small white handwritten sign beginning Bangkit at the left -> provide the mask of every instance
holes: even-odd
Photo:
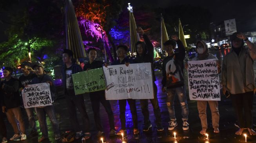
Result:
[[[22,90],[25,108],[52,105],[49,83],[31,84]]]

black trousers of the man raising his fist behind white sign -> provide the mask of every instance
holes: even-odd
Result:
[[[154,99],[150,99],[150,102],[154,108],[154,115],[156,117],[156,125],[161,125],[161,112],[158,105],[158,99],[157,99],[157,86],[154,83]],[[144,116],[144,124],[151,123],[149,120],[149,102],[148,99],[141,99],[140,105],[142,108],[142,114]]]

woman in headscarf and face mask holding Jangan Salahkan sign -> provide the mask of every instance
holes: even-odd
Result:
[[[198,41],[196,44],[196,52],[197,56],[192,58],[191,61],[200,61],[200,60],[207,60],[207,59],[214,59],[216,60],[216,64],[218,67],[218,73],[221,72],[220,63],[218,62],[218,58],[209,53],[207,45],[204,41]],[[188,64],[185,64],[185,68],[187,69]],[[200,134],[205,134],[207,130],[207,115],[206,115],[206,108],[207,102],[211,109],[212,113],[212,127],[214,133],[219,133],[219,121],[220,121],[220,114],[218,109],[218,101],[205,101],[205,100],[198,100],[197,101],[197,109],[199,113],[199,118],[201,120],[202,130]]]

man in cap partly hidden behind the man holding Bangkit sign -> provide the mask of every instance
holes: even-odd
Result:
[[[27,84],[32,81],[34,77],[36,77],[36,74],[31,68],[30,63],[27,61],[20,64],[20,69],[23,72],[23,75],[19,77],[20,90],[22,90],[25,86],[27,86]],[[27,135],[27,137],[31,138],[33,136],[37,136],[38,133],[36,130],[36,120],[34,119],[34,108],[25,108],[25,111],[29,120],[29,126],[31,127],[31,132],[29,135]]]

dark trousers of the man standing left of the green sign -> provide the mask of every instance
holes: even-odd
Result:
[[[69,120],[75,132],[81,131],[80,125],[76,116],[76,108],[82,116],[84,132],[90,132],[89,117],[86,113],[83,95],[67,95],[66,96],[67,107],[69,112]]]

